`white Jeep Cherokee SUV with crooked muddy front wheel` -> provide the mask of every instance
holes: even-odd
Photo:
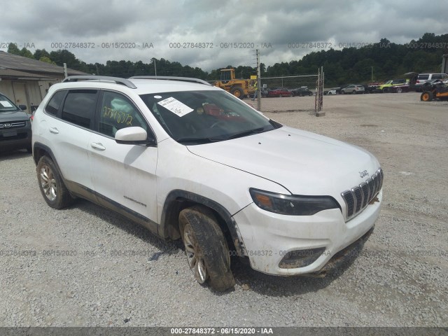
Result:
[[[73,76],[34,114],[38,186],[183,240],[200,283],[235,285],[230,255],[267,274],[325,274],[362,246],[383,172],[367,151],[286,127],[194,78]]]

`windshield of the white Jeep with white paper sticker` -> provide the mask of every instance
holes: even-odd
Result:
[[[281,127],[227,92],[162,92],[140,97],[165,131],[181,144],[225,141]]]

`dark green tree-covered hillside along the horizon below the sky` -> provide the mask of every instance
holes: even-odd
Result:
[[[151,63],[141,61],[107,61],[106,64],[87,64],[68,50],[47,52],[36,50],[34,54],[22,48],[19,50],[10,43],[8,52],[39,59],[62,66],[64,63],[71,69],[95,73],[103,76],[127,78],[139,75],[186,76],[205,80],[219,79],[220,69],[211,72],[198,67],[170,62],[167,59],[151,59]],[[382,38],[378,43],[365,45],[362,48],[343,48],[342,50],[321,50],[310,52],[302,59],[281,62],[274,65],[261,64],[263,77],[293,76],[316,73],[320,66],[325,71],[325,86],[335,86],[343,83],[368,83],[370,81],[388,80],[402,77],[407,72],[440,72],[442,55],[448,54],[448,34],[424,34],[417,41],[405,44],[391,43]],[[155,63],[155,66],[154,66]],[[226,68],[231,65],[223,66]],[[249,78],[256,74],[252,66],[235,66],[238,78]],[[373,78],[372,78],[373,75]]]

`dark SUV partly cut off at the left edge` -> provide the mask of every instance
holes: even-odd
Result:
[[[23,110],[0,93],[0,151],[25,148],[31,153],[31,122]]]

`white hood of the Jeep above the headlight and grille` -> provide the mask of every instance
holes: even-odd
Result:
[[[188,150],[279,183],[295,195],[339,197],[379,168],[377,159],[362,148],[286,126],[249,137],[188,146]]]

